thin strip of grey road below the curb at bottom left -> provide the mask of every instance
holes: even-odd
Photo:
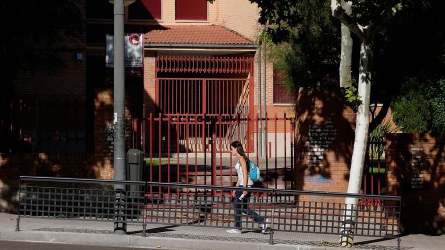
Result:
[[[108,247],[95,245],[76,245],[63,243],[43,243],[43,242],[22,242],[22,241],[3,241],[0,240],[1,250],[141,250],[141,249],[164,249],[167,248],[142,248],[142,247]],[[168,249],[167,249],[168,250]]]

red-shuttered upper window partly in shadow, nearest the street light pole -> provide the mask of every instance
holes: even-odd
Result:
[[[136,0],[128,6],[128,18],[140,20],[162,19],[161,0]]]

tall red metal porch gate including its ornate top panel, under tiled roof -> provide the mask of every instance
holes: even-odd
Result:
[[[253,120],[252,72],[251,57],[157,57],[156,105],[160,114],[169,117],[159,126],[173,132],[173,137],[162,137],[168,143],[162,143],[160,152],[210,152],[205,145],[215,136],[224,138],[218,147],[228,152],[236,131],[237,139],[253,152],[253,124],[224,124],[217,129],[215,118],[221,115]],[[205,77],[190,77],[197,75]],[[203,116],[214,119],[203,124],[183,122]],[[172,119],[180,122],[171,125]]]

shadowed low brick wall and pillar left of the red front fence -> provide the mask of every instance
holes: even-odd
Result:
[[[132,145],[131,118],[142,115],[142,84],[125,95],[126,148]],[[0,154],[0,212],[15,211],[20,175],[113,178],[113,91],[95,89],[94,154]]]

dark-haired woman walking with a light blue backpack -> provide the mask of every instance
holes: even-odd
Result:
[[[239,141],[234,141],[230,144],[230,151],[233,156],[236,156],[238,159],[237,164],[235,165],[235,169],[238,174],[238,180],[236,183],[236,187],[251,187],[253,185],[253,181],[249,176],[249,158],[247,158],[244,153],[243,145]],[[265,232],[266,224],[268,220],[264,220],[264,217],[259,216],[253,210],[250,210],[248,207],[249,197],[247,191],[232,191],[232,197],[234,197],[234,210],[235,210],[235,228],[227,230],[228,233],[241,233],[241,211],[252,218],[255,222],[262,222],[261,228],[262,232]]]

